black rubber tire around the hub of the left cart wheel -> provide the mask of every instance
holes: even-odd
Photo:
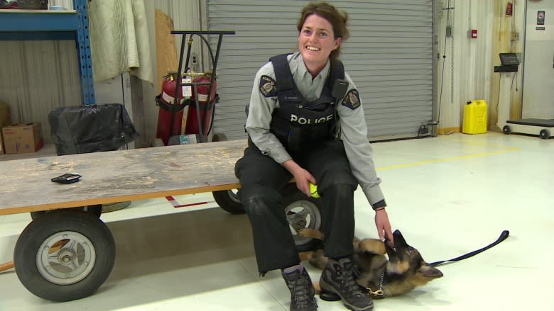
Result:
[[[77,283],[59,285],[46,280],[38,271],[41,244],[53,234],[75,232],[92,242],[96,254],[94,267]],[[13,261],[19,281],[31,293],[56,302],[77,300],[92,295],[112,272],[115,243],[112,233],[98,217],[80,210],[55,210],[33,220],[19,236]]]

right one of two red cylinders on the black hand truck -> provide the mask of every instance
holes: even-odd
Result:
[[[187,125],[185,126],[185,134],[200,134],[198,126],[198,115],[200,114],[200,122],[202,123],[202,135],[206,137],[210,132],[212,127],[212,119],[214,116],[214,105],[217,102],[217,95],[215,94],[215,89],[217,88],[217,83],[214,79],[213,83],[210,74],[196,77],[192,80],[192,84],[196,87],[192,88],[191,103],[188,108],[187,114]],[[211,86],[211,93],[210,93]],[[196,89],[196,91],[195,91]],[[196,94],[198,93],[198,100]],[[212,94],[212,96],[210,96]],[[208,101],[208,96],[210,96],[210,101]],[[196,106],[198,103],[198,110]],[[198,112],[198,113],[197,113]]]

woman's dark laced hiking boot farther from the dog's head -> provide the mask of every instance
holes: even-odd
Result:
[[[298,266],[291,272],[281,271],[288,290],[290,290],[290,311],[315,311],[315,289],[308,271]]]

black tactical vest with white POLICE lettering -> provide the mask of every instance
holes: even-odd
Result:
[[[330,73],[320,98],[306,101],[294,83],[287,55],[277,55],[270,60],[275,72],[280,105],[271,115],[270,131],[273,135],[291,152],[332,140],[337,125],[336,98],[332,96],[332,87],[335,79],[344,80],[342,62],[331,62]]]

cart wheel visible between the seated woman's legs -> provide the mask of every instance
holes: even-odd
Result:
[[[298,251],[313,249],[315,241],[309,237],[300,237],[298,231],[304,228],[313,230],[321,229],[322,217],[320,213],[321,200],[311,198],[296,188],[295,183],[290,183],[283,190],[283,205],[288,220],[290,232],[293,233],[294,242]]]

